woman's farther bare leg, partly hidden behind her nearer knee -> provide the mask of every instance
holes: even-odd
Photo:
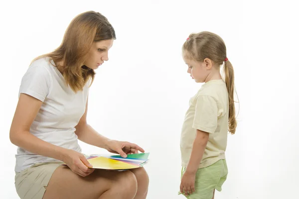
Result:
[[[137,179],[137,193],[134,199],[146,199],[149,189],[149,176],[145,168],[131,169]]]

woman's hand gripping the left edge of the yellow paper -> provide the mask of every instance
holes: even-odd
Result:
[[[90,169],[92,165],[87,161],[85,156],[77,151],[67,149],[63,157],[63,162],[76,174],[85,177],[94,172]],[[88,168],[89,167],[89,168]]]

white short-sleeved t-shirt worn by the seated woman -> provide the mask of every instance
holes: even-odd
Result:
[[[75,126],[85,112],[89,83],[83,91],[73,92],[66,86],[62,74],[49,58],[34,61],[21,80],[19,95],[30,95],[43,101],[30,133],[34,136],[67,149],[81,153]],[[53,65],[52,65],[53,64]],[[20,172],[35,163],[57,161],[56,159],[33,154],[20,147],[15,155],[15,171]]]

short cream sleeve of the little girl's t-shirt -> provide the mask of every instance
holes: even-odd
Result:
[[[214,133],[217,128],[218,107],[211,96],[199,95],[195,104],[195,116],[192,128]]]

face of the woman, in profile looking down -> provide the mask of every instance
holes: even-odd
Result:
[[[108,61],[108,50],[113,45],[113,39],[94,42],[84,62],[90,69],[97,69],[104,61]]]

